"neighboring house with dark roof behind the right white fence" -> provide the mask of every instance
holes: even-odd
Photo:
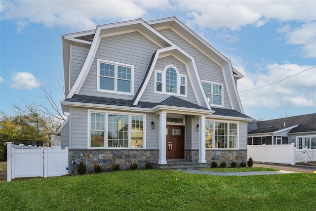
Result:
[[[292,143],[316,149],[316,113],[248,122],[248,145]]]

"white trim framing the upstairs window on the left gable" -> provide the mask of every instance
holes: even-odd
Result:
[[[114,76],[114,89],[115,90],[114,91],[100,88],[100,77],[101,77],[100,76],[100,63],[107,63],[107,64],[115,65],[115,76]],[[130,92],[117,91],[117,89],[118,89],[118,65],[131,68]],[[134,95],[134,65],[113,62],[113,61],[108,61],[108,60],[103,60],[103,59],[97,59],[97,91],[114,93],[114,94]]]

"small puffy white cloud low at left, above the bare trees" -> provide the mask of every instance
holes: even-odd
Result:
[[[14,89],[32,90],[39,88],[40,83],[32,73],[28,72],[14,72],[11,77],[12,83],[10,86]]]

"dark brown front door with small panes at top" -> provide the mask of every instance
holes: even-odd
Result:
[[[167,126],[166,159],[184,159],[184,126]]]

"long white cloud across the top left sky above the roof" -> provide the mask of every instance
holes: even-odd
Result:
[[[144,13],[145,10],[129,0],[1,1],[1,19],[17,20],[18,32],[28,23],[89,30],[96,27],[95,21],[135,19]]]

